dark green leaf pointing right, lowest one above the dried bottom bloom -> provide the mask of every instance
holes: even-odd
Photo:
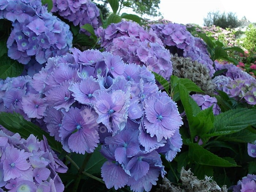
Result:
[[[217,167],[235,167],[237,166],[231,158],[221,158],[204,149],[197,143],[189,144],[188,157],[199,165],[217,166]]]

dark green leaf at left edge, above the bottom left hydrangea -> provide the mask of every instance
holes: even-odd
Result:
[[[5,127],[11,132],[19,133],[22,138],[27,139],[30,134],[37,136],[38,139],[43,140],[43,135],[46,137],[49,146],[59,153],[61,153],[62,146],[57,142],[54,137],[50,136],[47,132],[43,131],[37,125],[27,121],[22,115],[18,113],[0,113],[0,125]]]

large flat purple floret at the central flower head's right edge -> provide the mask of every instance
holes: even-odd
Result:
[[[150,97],[144,103],[144,128],[151,137],[155,135],[158,142],[173,136],[176,129],[183,124],[176,103],[169,97]]]

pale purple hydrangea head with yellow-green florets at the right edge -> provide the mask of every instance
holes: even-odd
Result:
[[[250,105],[256,104],[256,79],[242,71],[234,64],[219,64],[215,61],[218,70],[227,69],[221,76],[216,76],[213,82],[217,89],[224,91],[229,97]]]

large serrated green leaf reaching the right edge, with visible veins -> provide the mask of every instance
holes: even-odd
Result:
[[[227,135],[256,124],[256,109],[230,109],[214,118],[214,128],[204,136]]]

